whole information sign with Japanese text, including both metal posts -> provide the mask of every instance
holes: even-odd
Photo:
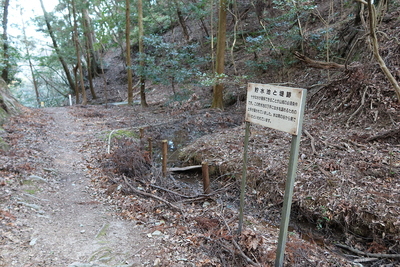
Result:
[[[243,207],[247,172],[247,148],[250,123],[256,123],[292,134],[289,168],[286,180],[278,249],[275,260],[276,267],[283,265],[290,220],[290,209],[293,197],[293,187],[296,178],[301,128],[306,104],[306,94],[307,91],[304,89],[268,84],[249,83],[247,87],[246,134],[243,152],[243,175],[240,194],[239,234],[241,233],[243,226]]]

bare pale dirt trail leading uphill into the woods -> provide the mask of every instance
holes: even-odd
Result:
[[[40,146],[53,161],[52,168],[45,168],[52,178],[32,173],[24,181],[14,198],[20,207],[16,222],[20,236],[9,234],[0,266],[153,265],[152,251],[158,250],[159,240],[149,238],[144,226],[113,216],[113,208],[88,190],[90,176],[84,162],[90,155],[80,147],[101,123],[75,118],[70,110],[44,110],[50,120]]]

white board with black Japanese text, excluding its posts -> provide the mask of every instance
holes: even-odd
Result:
[[[246,121],[298,134],[304,89],[249,83]]]

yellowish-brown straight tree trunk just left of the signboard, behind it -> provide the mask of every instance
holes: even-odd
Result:
[[[217,58],[216,58],[216,72],[217,75],[224,73],[225,67],[225,41],[226,41],[226,13],[227,13],[228,0],[219,1],[219,14],[218,14],[218,35],[217,35]],[[217,83],[214,86],[212,108],[224,108],[223,102],[224,85]]]

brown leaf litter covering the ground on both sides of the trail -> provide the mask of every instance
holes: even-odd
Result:
[[[93,199],[77,203],[85,207],[90,205],[81,203],[109,205],[114,216],[142,227],[146,238],[159,238],[159,253],[150,256],[136,252],[150,257],[143,261],[147,265],[272,266],[290,136],[252,126],[245,225],[241,236],[237,236],[243,106],[233,107],[239,112],[201,110],[196,106],[166,109],[154,104],[147,110],[62,108],[86,127],[82,131],[91,131],[90,137],[78,142],[78,150],[85,157],[76,164],[85,169],[86,178],[91,181],[87,190]],[[13,199],[21,193],[21,184],[32,186],[32,193],[41,190],[24,184],[24,177],[34,173],[49,181],[54,179],[54,172],[46,171],[54,169],[54,162],[43,153],[45,148],[32,145],[52,142],[43,134],[46,125],[54,124],[47,116],[41,110],[29,110],[5,127],[5,139],[13,148],[1,156],[2,244],[20,242],[22,246],[19,233],[26,229],[18,225],[18,217],[32,212],[27,206],[16,206]],[[142,127],[145,137],[151,137],[155,144],[184,129],[186,143],[175,152],[179,161],[171,164],[192,165],[207,160],[212,193],[202,193],[198,173],[169,173],[162,177],[158,145],[149,157],[146,138],[112,138],[111,153],[107,153],[106,137],[111,130],[138,132]],[[366,141],[365,135],[374,136],[381,130],[344,129],[312,114],[306,115],[304,128],[313,139],[302,136],[286,265],[352,266],[358,258],[340,250],[335,242],[360,251],[398,254],[398,145],[385,139]]]

